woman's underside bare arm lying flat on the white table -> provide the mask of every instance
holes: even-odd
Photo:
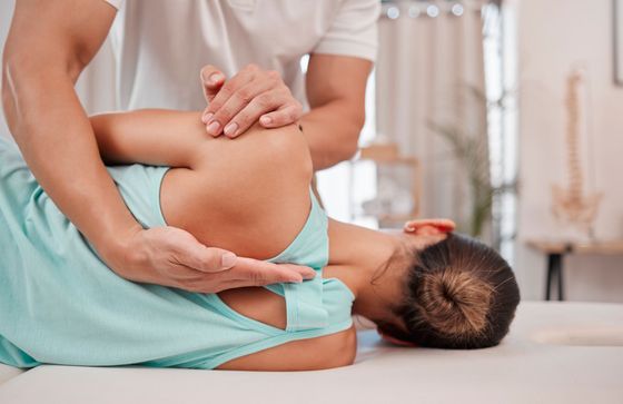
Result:
[[[317,338],[294,341],[220,365],[227,371],[320,371],[352,365],[357,353],[355,326]]]

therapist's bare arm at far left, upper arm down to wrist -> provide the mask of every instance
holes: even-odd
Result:
[[[38,181],[119,268],[123,257],[115,254],[117,245],[140,227],[99,158],[73,89],[115,13],[97,0],[16,2],[2,61],[2,104],[11,134]]]

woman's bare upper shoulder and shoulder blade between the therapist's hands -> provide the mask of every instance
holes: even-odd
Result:
[[[303,135],[294,126],[254,127],[198,149],[192,170],[172,170],[162,183],[167,223],[240,256],[279,254],[309,214],[312,160]]]

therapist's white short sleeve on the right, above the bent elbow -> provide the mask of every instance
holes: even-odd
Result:
[[[312,53],[353,56],[375,61],[379,0],[344,0],[332,27]]]

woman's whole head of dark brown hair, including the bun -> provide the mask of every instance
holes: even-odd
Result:
[[[494,249],[457,234],[414,252],[404,302],[396,308],[418,346],[476,349],[508,333],[520,303],[513,270]]]

